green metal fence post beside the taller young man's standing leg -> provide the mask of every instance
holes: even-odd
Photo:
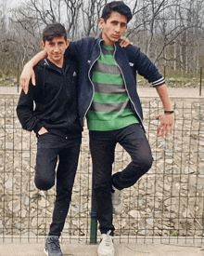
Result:
[[[97,243],[96,197],[92,178],[92,207],[91,207],[90,244]]]

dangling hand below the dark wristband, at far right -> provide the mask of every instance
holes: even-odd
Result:
[[[158,127],[158,135],[162,137],[168,137],[172,133],[172,128],[174,124],[174,115],[173,114],[161,114],[156,115],[156,118],[160,120]]]

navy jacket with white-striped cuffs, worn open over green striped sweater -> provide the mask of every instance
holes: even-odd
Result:
[[[76,58],[79,62],[79,115],[82,125],[94,97],[95,88],[91,78],[93,66],[101,54],[102,42],[100,37],[86,37],[70,42],[65,53],[65,56]],[[154,87],[164,84],[164,79],[155,64],[138,47],[120,47],[119,42],[115,43],[114,47],[114,58],[121,70],[132,110],[143,127],[142,106],[136,89],[136,72],[143,75]]]

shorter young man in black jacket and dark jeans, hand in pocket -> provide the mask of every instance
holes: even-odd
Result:
[[[45,243],[48,256],[62,255],[58,238],[70,207],[82,142],[83,128],[77,110],[78,66],[64,59],[69,43],[61,24],[45,28],[42,47],[47,58],[34,67],[36,86],[30,84],[28,94],[21,91],[17,106],[22,128],[33,130],[37,136],[34,182],[38,189],[53,187],[57,167],[56,202]]]

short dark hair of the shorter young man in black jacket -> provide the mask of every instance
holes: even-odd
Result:
[[[60,23],[48,24],[43,32],[43,41],[52,41],[55,36],[64,36],[67,40],[67,32],[65,27]]]

